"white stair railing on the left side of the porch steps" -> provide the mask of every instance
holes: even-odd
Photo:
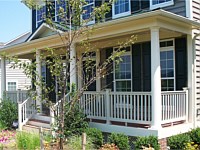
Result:
[[[23,102],[18,102],[18,128],[22,130],[28,120],[36,113],[36,101],[32,97]]]

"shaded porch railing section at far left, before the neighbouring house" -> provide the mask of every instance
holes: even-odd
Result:
[[[17,90],[17,91],[6,91],[6,98],[11,100],[12,102],[23,102],[28,98],[28,91],[27,90]]]

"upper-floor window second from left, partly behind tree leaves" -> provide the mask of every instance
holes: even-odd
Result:
[[[66,1],[56,0],[55,4],[55,21],[64,22],[66,16]]]

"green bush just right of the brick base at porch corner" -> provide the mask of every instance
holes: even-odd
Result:
[[[171,136],[167,139],[170,149],[184,149],[185,144],[189,143],[191,138],[188,133]]]

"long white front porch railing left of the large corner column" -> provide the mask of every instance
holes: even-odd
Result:
[[[150,124],[150,92],[84,92],[81,106],[89,119]]]

